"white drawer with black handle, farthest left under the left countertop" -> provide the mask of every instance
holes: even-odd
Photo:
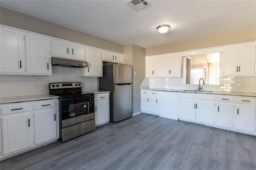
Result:
[[[31,111],[30,103],[16,103],[1,105],[1,115]]]

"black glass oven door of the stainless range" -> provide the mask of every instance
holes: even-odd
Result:
[[[60,107],[62,121],[94,113],[94,96],[62,99]]]

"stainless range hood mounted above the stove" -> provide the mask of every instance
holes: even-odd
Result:
[[[64,59],[59,57],[52,57],[52,66],[82,68],[82,67],[88,67],[88,63],[82,60],[72,60],[72,59]]]

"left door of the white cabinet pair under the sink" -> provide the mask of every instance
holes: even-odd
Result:
[[[190,99],[180,99],[180,118],[196,120],[196,102]]]

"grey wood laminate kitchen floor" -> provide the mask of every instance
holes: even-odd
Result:
[[[256,170],[256,136],[149,114],[2,160],[1,170]]]

